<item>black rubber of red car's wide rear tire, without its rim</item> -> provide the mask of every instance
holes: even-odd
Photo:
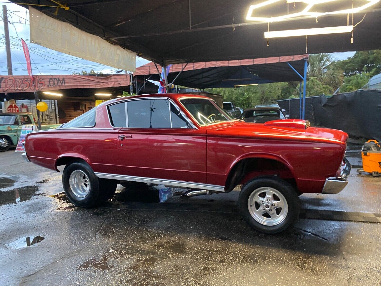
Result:
[[[80,172],[82,171],[82,172]],[[79,197],[70,187],[70,175],[75,172],[77,174],[85,174],[88,181],[88,192]],[[78,207],[94,207],[111,198],[117,188],[117,182],[108,179],[98,179],[93,169],[83,161],[72,162],[67,164],[62,174],[62,185],[70,202]]]

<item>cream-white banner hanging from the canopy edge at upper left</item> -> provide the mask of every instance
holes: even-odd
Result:
[[[31,43],[117,69],[135,71],[136,53],[46,16],[30,6],[29,15]]]

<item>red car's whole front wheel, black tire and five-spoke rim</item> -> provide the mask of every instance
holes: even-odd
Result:
[[[239,195],[239,210],[246,222],[263,233],[279,233],[299,217],[295,189],[277,177],[260,177],[246,183]]]

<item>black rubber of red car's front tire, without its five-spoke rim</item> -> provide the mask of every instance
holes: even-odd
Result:
[[[255,215],[250,214],[248,206],[249,197],[254,191],[258,193],[258,190],[261,187],[268,187],[279,191],[287,202],[287,215],[285,215],[285,218],[276,225],[264,225],[254,218]],[[256,206],[258,206],[258,203]],[[256,208],[256,206],[254,207]],[[239,194],[238,207],[243,219],[245,219],[245,221],[253,229],[263,233],[275,234],[285,231],[293,225],[296,219],[298,219],[300,212],[300,201],[298,194],[290,183],[278,177],[258,177],[250,180],[243,186]],[[262,205],[260,205],[259,209],[260,208],[262,208]]]

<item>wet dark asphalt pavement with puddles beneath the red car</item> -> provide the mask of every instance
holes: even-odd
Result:
[[[62,195],[61,173],[13,151],[0,159],[1,286],[381,284],[381,223],[299,219],[264,235],[235,211],[237,191],[157,204],[143,202],[149,189],[120,186],[109,204],[80,209]],[[352,169],[349,179],[337,195],[303,194],[307,214],[381,213],[381,178]],[[122,203],[131,200],[141,202]]]

